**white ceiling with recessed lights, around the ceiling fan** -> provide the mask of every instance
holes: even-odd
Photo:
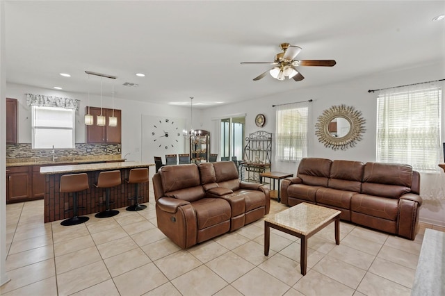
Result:
[[[99,93],[89,70],[118,77],[115,97],[207,108],[437,63],[444,13],[445,1],[6,1],[6,81]],[[337,65],[252,81],[271,66],[240,63],[273,61],[282,42]]]

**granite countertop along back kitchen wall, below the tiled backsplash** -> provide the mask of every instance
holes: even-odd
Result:
[[[83,157],[59,157],[56,161],[51,158],[13,158],[6,160],[7,167],[19,167],[22,165],[66,165],[70,163],[104,163],[106,161],[125,161],[120,155],[83,156]]]

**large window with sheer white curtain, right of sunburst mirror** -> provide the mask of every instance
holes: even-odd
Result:
[[[430,85],[379,94],[377,161],[407,163],[419,172],[440,162],[442,89]]]

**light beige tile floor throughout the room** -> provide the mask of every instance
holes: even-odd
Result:
[[[150,197],[154,194],[151,190]],[[264,222],[180,249],[147,209],[63,227],[43,223],[43,201],[8,204],[6,270],[1,295],[410,295],[425,228],[406,240],[341,222],[309,238],[308,272],[300,241]],[[271,202],[271,213],[286,206]]]

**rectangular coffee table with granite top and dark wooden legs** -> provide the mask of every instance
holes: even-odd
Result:
[[[301,274],[307,270],[307,239],[335,222],[335,243],[340,244],[341,211],[315,204],[302,202],[280,213],[264,218],[264,255],[268,256],[270,246],[270,227],[289,233],[301,239],[300,268]]]

